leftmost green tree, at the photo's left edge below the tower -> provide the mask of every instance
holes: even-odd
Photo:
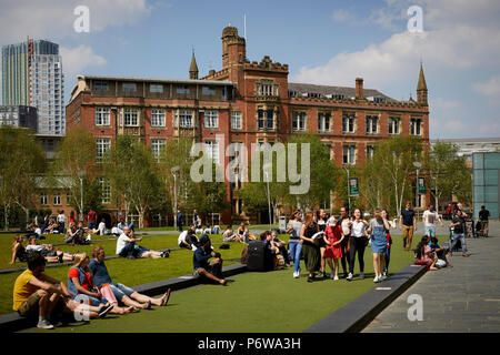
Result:
[[[24,211],[28,222],[29,209],[34,205],[39,175],[44,165],[46,154],[31,131],[0,128],[0,201],[6,231],[9,229],[9,212],[14,206]]]

